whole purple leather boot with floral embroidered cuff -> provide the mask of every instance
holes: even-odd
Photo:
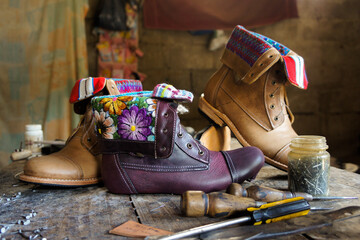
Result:
[[[183,129],[174,100],[191,101],[192,94],[161,84],[153,92],[93,98],[102,178],[111,192],[210,192],[256,177],[261,150],[208,150]]]

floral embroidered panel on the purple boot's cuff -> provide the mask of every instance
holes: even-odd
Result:
[[[95,97],[95,131],[105,139],[155,141],[157,100],[151,92]]]

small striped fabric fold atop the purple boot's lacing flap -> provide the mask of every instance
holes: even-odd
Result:
[[[156,85],[152,96],[186,102],[192,102],[194,98],[194,95],[191,92],[186,90],[178,90],[173,85],[166,83]]]

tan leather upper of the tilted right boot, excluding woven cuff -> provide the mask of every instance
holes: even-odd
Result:
[[[286,169],[288,144],[297,134],[291,127],[293,115],[287,106],[283,64],[279,58],[272,59],[278,60],[268,62],[260,77],[247,81],[244,76],[248,76],[249,67],[241,67],[243,60],[226,49],[221,59],[224,64],[208,82],[204,97],[228,118],[232,131],[236,129],[241,135],[241,144],[260,148],[269,162]],[[256,66],[253,71],[258,72]]]

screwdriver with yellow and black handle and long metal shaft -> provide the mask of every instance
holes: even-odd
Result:
[[[285,199],[277,202],[263,204],[260,207],[250,207],[242,212],[244,216],[229,219],[217,223],[211,223],[200,227],[191,228],[159,239],[174,240],[201,233],[209,232],[219,228],[231,226],[239,223],[254,225],[268,224],[285,219],[305,216],[310,211],[310,204],[302,197]]]

